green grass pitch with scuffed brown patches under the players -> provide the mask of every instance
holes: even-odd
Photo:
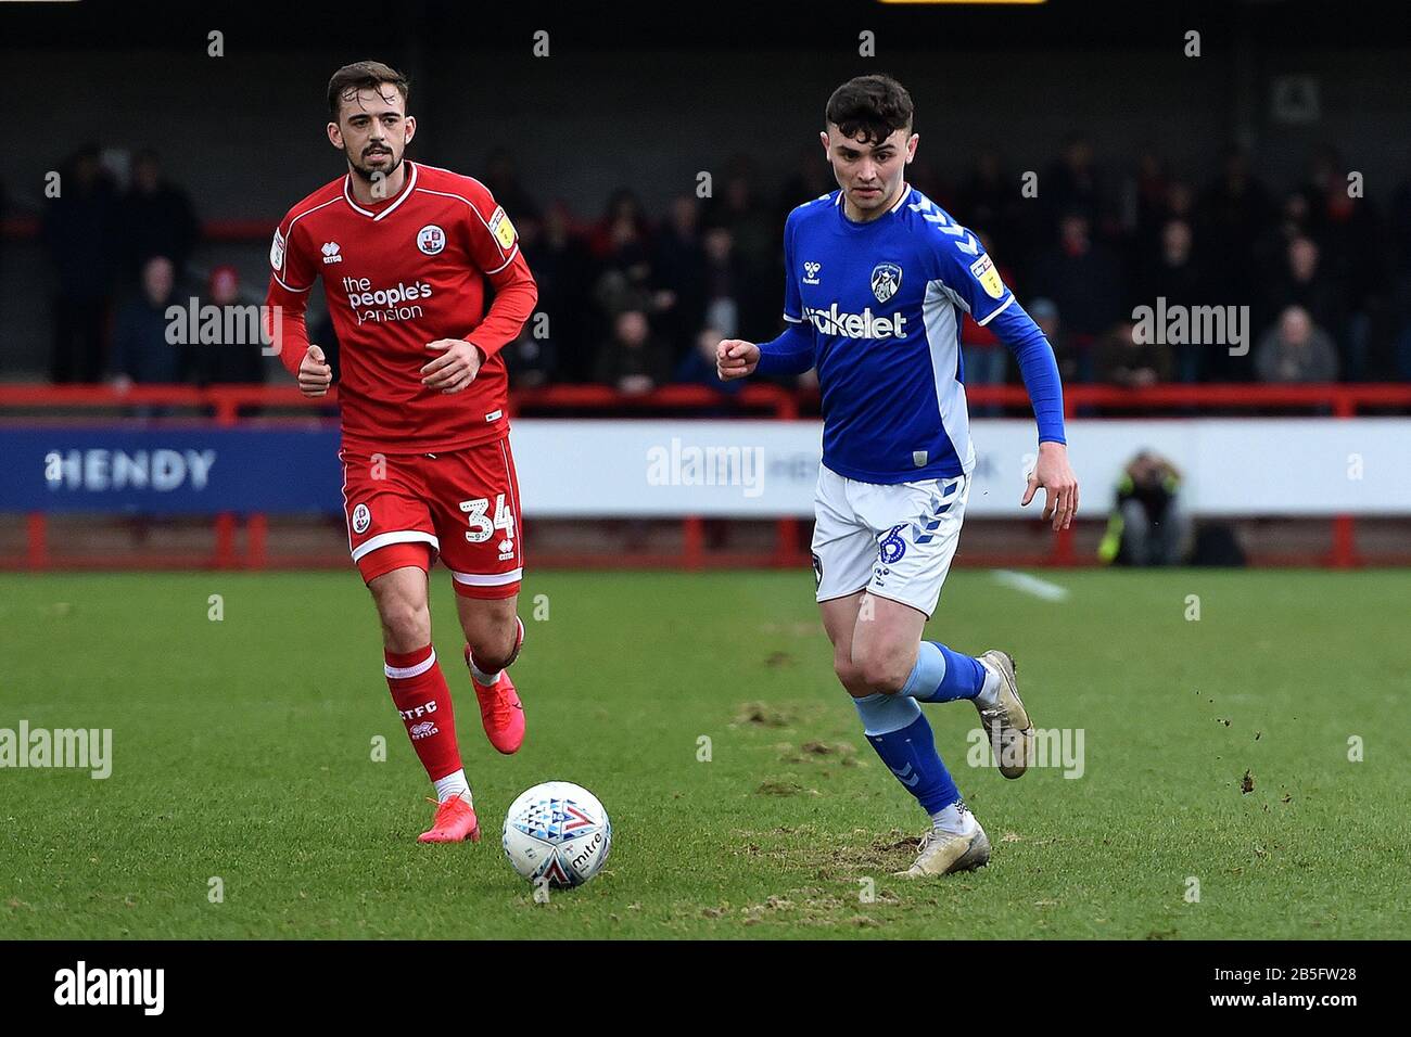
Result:
[[[892,872],[909,863],[926,820],[866,746],[832,677],[809,571],[532,571],[515,667],[529,736],[501,758],[480,731],[452,591],[436,570],[436,645],[459,691],[485,832],[459,847],[415,842],[429,786],[392,710],[354,573],[0,577],[0,728],[113,729],[106,780],[0,770],[0,931],[1411,930],[1411,576],[1044,576],[1067,601],[954,571],[928,635],[962,650],[1010,649],[1036,725],[1082,731],[1082,776],[1053,766],[1006,782],[969,766],[974,708],[928,705],[995,854],[976,873],[920,883]],[[535,618],[536,595],[547,618]],[[1188,595],[1199,598],[1198,621],[1187,618]],[[378,735],[385,762],[373,759]],[[1349,759],[1355,736],[1360,760]],[[591,883],[540,904],[505,861],[499,825],[514,796],[552,777],[602,799],[615,842]]]

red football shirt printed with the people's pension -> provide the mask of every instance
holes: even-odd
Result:
[[[350,175],[323,185],[281,220],[270,248],[268,305],[279,315],[279,360],[296,374],[309,336],[309,289],[323,293],[340,347],[343,443],[358,453],[459,450],[498,439],[505,361],[539,291],[505,210],[471,176],[406,162],[402,190],[364,206]],[[485,285],[494,302],[485,309]],[[464,339],[485,354],[476,380],[443,394],[420,368],[426,344]]]

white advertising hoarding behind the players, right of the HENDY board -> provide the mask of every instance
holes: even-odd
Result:
[[[1033,466],[1030,420],[976,419],[967,514],[1019,507]],[[1088,515],[1106,512],[1140,449],[1185,474],[1197,515],[1411,515],[1411,419],[1070,420]],[[519,419],[512,443],[525,511],[543,518],[811,516],[823,425],[758,419]]]

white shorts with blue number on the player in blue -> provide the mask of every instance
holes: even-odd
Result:
[[[961,539],[968,475],[880,485],[818,466],[813,574],[818,601],[866,590],[927,617]]]

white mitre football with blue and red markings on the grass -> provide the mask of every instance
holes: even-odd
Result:
[[[543,782],[519,794],[505,815],[505,856],[529,882],[581,886],[612,849],[612,823],[598,797],[573,782]]]

